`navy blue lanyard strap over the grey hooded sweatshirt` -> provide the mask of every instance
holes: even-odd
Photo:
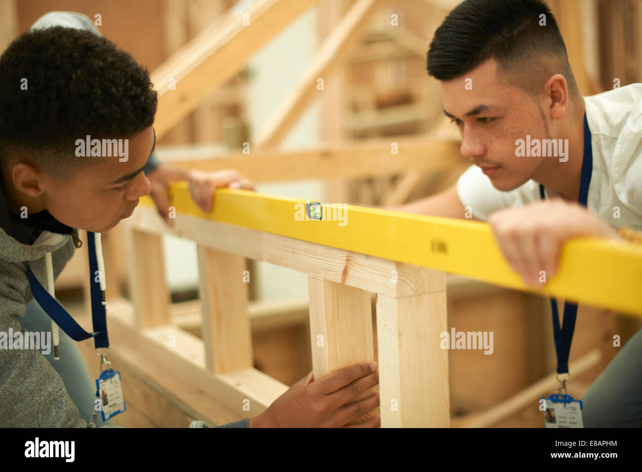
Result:
[[[92,250],[93,249],[93,250]],[[105,305],[102,303],[102,291],[100,290],[100,280],[96,281],[98,274],[98,259],[96,258],[96,240],[94,233],[87,231],[87,251],[89,252],[89,286],[91,292],[91,318],[93,333],[87,333],[80,324],[74,320],[67,310],[62,308],[60,303],[51,296],[49,292],[40,284],[31,267],[27,264],[29,275],[29,283],[31,285],[31,293],[36,299],[42,310],[49,315],[49,317],[56,322],[56,324],[69,335],[74,341],[82,341],[94,338],[94,345],[96,349],[99,347],[109,347],[109,339],[107,337],[107,312]],[[102,274],[104,276],[104,274]]]

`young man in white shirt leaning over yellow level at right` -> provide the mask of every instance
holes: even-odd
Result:
[[[582,96],[546,4],[464,1],[435,32],[428,73],[474,165],[452,188],[388,209],[488,221],[535,286],[542,270],[555,275],[565,241],[642,229],[642,84]],[[584,426],[642,426],[641,357],[642,330],[582,398]]]

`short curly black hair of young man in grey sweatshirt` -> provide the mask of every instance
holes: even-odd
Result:
[[[141,132],[157,102],[147,69],[105,37],[63,26],[28,31],[0,57],[0,162],[21,153],[67,180],[96,162],[76,157],[76,139]]]

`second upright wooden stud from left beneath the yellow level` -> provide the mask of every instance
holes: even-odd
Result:
[[[198,245],[207,369],[218,374],[254,365],[245,258]]]

